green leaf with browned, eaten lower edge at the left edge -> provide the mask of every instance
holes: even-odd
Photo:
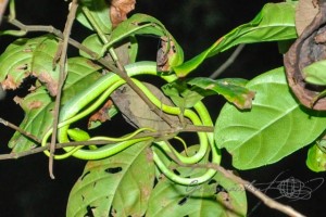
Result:
[[[0,81],[4,89],[18,88],[28,76],[38,78],[51,95],[57,95],[59,67],[53,68],[58,40],[46,35],[17,39],[0,55]]]

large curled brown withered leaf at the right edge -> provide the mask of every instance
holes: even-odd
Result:
[[[313,110],[326,111],[326,98],[318,99],[323,90],[308,85],[302,73],[312,63],[326,60],[326,44],[323,43],[326,35],[326,0],[319,0],[318,5],[319,12],[285,54],[284,64],[289,86],[300,103]]]

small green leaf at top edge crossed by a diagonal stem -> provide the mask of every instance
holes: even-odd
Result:
[[[105,0],[96,0],[96,1],[82,0],[82,3],[89,9],[92,17],[100,26],[102,33],[110,34],[112,28],[112,23],[110,20],[110,7],[108,5],[106,1]],[[93,30],[91,24],[83,13],[82,8],[78,8],[76,18],[82,25]]]

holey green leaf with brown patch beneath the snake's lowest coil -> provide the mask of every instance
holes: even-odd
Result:
[[[192,145],[188,153],[195,154],[199,145]],[[164,162],[168,162],[160,154]],[[208,159],[204,157],[200,163]],[[175,167],[172,164],[171,167]],[[178,167],[180,176],[199,177],[204,174],[204,168]],[[226,179],[217,173],[206,183],[187,187],[172,182],[167,178],[161,178],[155,186],[146,216],[246,216],[247,199],[243,187]]]

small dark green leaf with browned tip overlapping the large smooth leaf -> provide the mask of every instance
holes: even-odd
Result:
[[[227,101],[234,103],[239,108],[250,108],[254,92],[244,87],[247,80],[241,78],[225,78],[213,80],[205,77],[192,78],[189,85],[202,88],[208,93],[222,94]]]

